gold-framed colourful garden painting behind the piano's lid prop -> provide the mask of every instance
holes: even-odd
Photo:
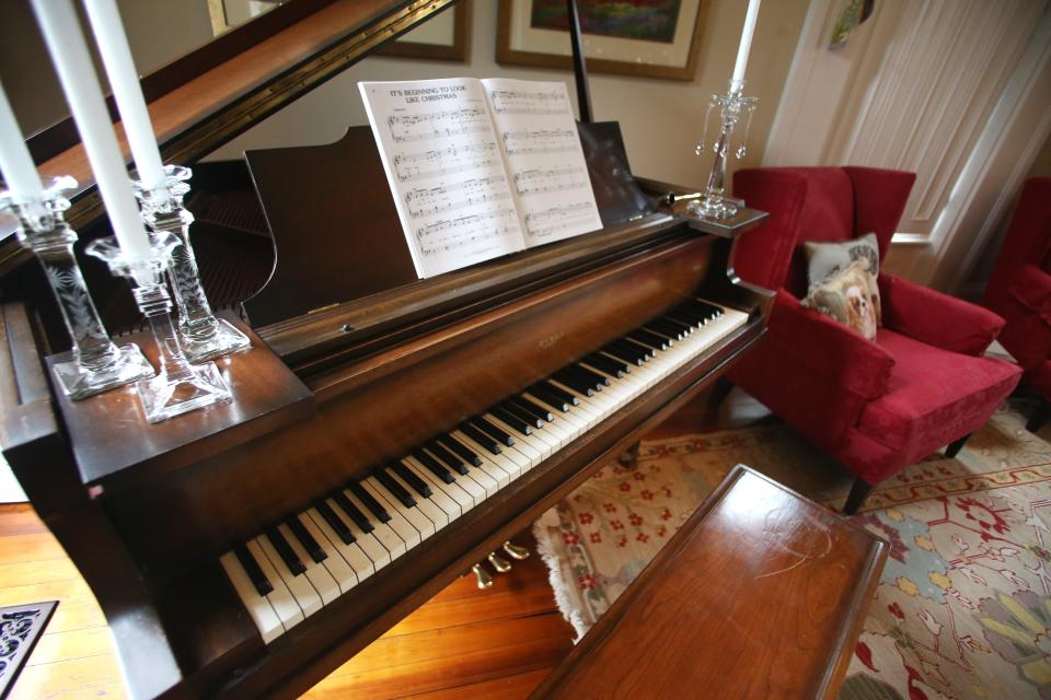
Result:
[[[588,70],[693,80],[711,0],[578,0]],[[565,0],[500,0],[496,61],[571,68]]]

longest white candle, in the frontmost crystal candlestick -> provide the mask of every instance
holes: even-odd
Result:
[[[73,5],[70,0],[32,0],[32,3],[120,249],[132,260],[147,259],[149,238]]]

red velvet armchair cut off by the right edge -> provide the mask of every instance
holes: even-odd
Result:
[[[1038,430],[1051,418],[1051,177],[1023,187],[982,303],[1007,322],[1000,342],[1043,398],[1029,420]]]

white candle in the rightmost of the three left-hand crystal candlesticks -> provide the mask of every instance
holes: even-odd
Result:
[[[102,54],[102,62],[106,67],[109,86],[117,100],[120,121],[128,136],[128,143],[131,144],[131,155],[135,156],[139,179],[148,189],[155,189],[165,183],[164,167],[161,165],[157,137],[150,113],[146,108],[139,77],[135,72],[135,61],[120,23],[117,3],[114,0],[84,0],[84,9],[88,10],[91,30],[95,34],[99,52]]]

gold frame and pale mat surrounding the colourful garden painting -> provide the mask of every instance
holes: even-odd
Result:
[[[538,3],[552,5],[554,9],[554,0],[500,0],[496,62],[571,69],[568,31],[538,26],[535,24]],[[558,3],[565,5],[564,0],[558,0]],[[623,3],[617,4],[623,5]],[[666,14],[675,12],[668,36],[659,40],[647,40],[619,36],[616,32],[623,32],[624,28],[609,27],[609,33],[605,35],[589,33],[587,28],[589,8],[581,3],[581,25],[585,30],[584,45],[588,71],[693,80],[711,0],[681,0],[677,3],[669,1],[667,4],[671,7],[646,10]],[[638,26],[639,24],[631,24],[630,21],[622,25],[622,27],[631,27],[632,31],[637,31]]]

